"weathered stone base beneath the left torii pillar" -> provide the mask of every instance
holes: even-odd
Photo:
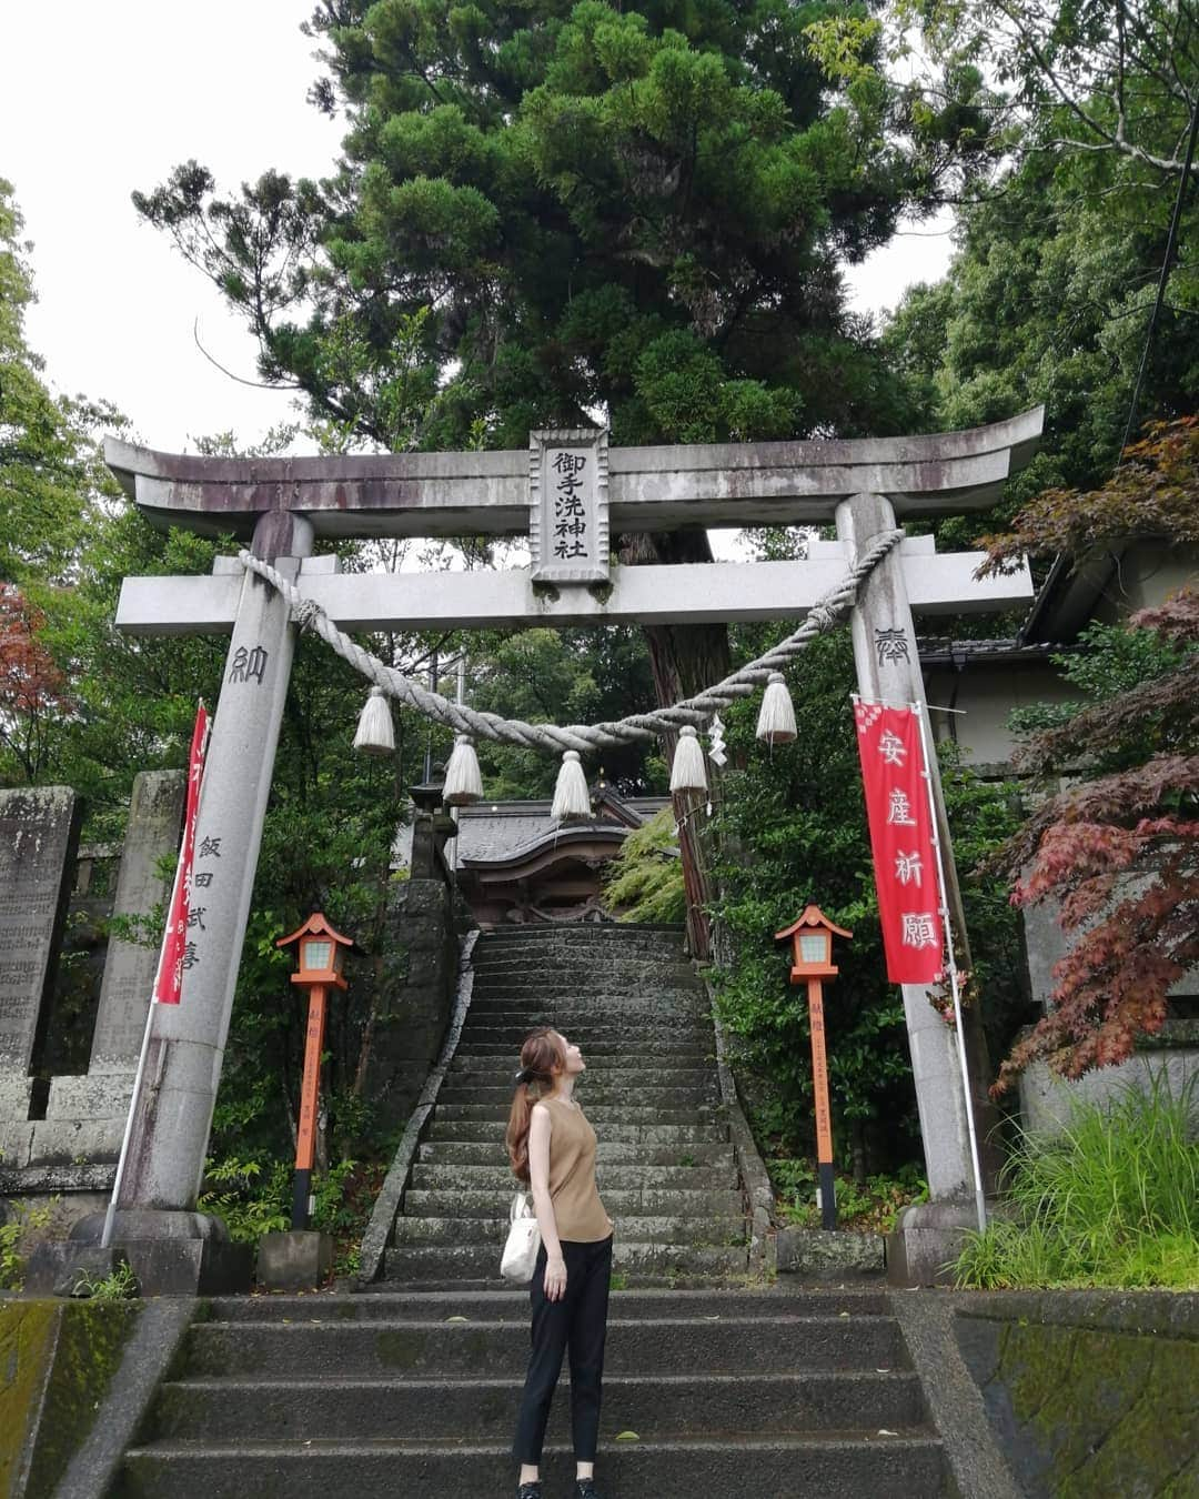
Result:
[[[49,1295],[75,1264],[90,1264],[103,1232],[103,1213],[72,1228],[69,1240],[39,1244],[30,1256],[25,1289]],[[253,1283],[253,1246],[232,1244],[217,1217],[156,1208],[117,1213],[112,1249],[129,1261],[144,1297],[220,1297]]]

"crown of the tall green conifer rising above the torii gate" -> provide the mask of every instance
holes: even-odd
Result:
[[[626,444],[898,430],[839,265],[977,130],[956,88],[911,111],[883,9],[348,0],[309,24],[333,180],[226,199],[187,162],[135,204],[346,436],[520,447],[598,409]]]

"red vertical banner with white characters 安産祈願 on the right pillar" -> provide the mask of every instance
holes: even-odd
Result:
[[[860,699],[853,712],[887,977],[935,983],[944,976],[944,928],[920,721],[910,708]]]

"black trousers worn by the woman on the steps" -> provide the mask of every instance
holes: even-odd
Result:
[[[571,1432],[574,1457],[594,1463],[600,1439],[600,1393],[604,1379],[604,1337],[608,1325],[611,1235],[595,1244],[562,1240],[567,1262],[567,1294],[561,1301],[546,1297],[546,1246],[537,1256],[529,1298],[534,1307],[532,1352],[525,1376],[525,1394],[516,1423],[513,1457],[520,1463],[541,1462],[546,1423],[550,1420],[562,1354],[571,1355]]]

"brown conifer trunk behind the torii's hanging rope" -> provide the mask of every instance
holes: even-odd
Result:
[[[712,549],[704,531],[671,531],[664,535],[620,538],[620,561],[629,565],[655,562],[710,562]],[[668,708],[683,697],[694,697],[728,676],[728,628],[725,625],[646,625],[649,661],[658,705]],[[667,758],[673,757],[677,735],[662,735]],[[707,773],[712,776],[713,766]],[[712,832],[707,799],[700,791],[673,796],[679,824],[679,853],[686,889],[686,938],[695,958],[710,955],[712,934],[707,905],[712,899]]]

